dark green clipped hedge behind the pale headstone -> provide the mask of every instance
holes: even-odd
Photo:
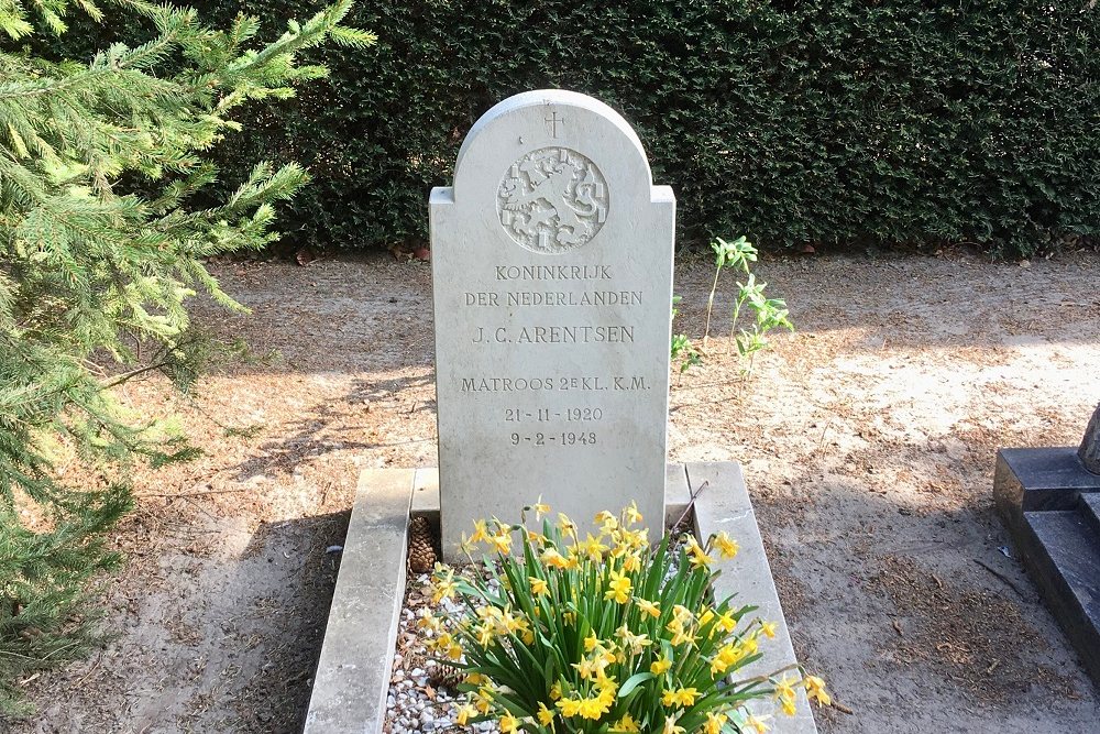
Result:
[[[279,21],[287,0],[202,2]],[[1030,252],[1100,229],[1100,9],[1086,0],[386,0],[326,50],[329,84],[255,108],[227,185],[294,157],[295,241],[427,233],[466,130],[517,91],[564,87],[635,124],[682,241],[979,242]]]

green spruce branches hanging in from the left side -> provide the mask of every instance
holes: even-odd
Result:
[[[327,74],[299,63],[301,52],[375,41],[341,25],[350,0],[289,22],[272,43],[255,42],[248,15],[219,30],[193,9],[110,4],[152,39],[84,64],[0,48],[0,715],[21,706],[19,676],[91,639],[66,620],[86,611],[89,580],[119,562],[105,533],[131,506],[118,481],[129,463],[195,453],[133,425],[110,388],[153,371],[182,388],[195,381],[210,347],[193,338],[189,299],[202,292],[246,310],[201,259],[271,242],[275,206],[308,180],[295,163],[261,163],[210,204],[211,149],[240,129],[248,100],[285,98]],[[0,35],[63,33],[77,11],[103,18],[92,0],[0,0]],[[86,462],[106,489],[66,484],[59,458]],[[52,529],[26,525],[28,503]],[[28,628],[41,637],[21,637]]]

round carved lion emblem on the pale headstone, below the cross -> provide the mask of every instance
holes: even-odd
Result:
[[[568,147],[542,147],[512,164],[497,191],[501,223],[521,247],[544,254],[586,244],[607,219],[607,182]]]

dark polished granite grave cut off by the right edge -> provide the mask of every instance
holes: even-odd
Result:
[[[993,497],[1024,568],[1100,686],[1100,405],[1080,448],[998,451]]]

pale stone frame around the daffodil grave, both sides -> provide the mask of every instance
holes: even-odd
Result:
[[[765,658],[743,669],[762,675],[796,662],[790,632],[772,581],[740,465],[736,462],[669,464],[664,524],[678,519],[695,495],[695,535],[702,540],[726,530],[740,544],[737,557],[715,561],[722,574],[715,596],[736,593],[738,603],[759,607],[777,623]],[[411,517],[439,523],[437,469],[369,469],[360,475],[343,558],[305,734],[381,734],[394,662],[406,582]],[[769,712],[770,702],[761,706]],[[799,691],[798,715],[776,716],[774,734],[816,734],[810,703]]]

